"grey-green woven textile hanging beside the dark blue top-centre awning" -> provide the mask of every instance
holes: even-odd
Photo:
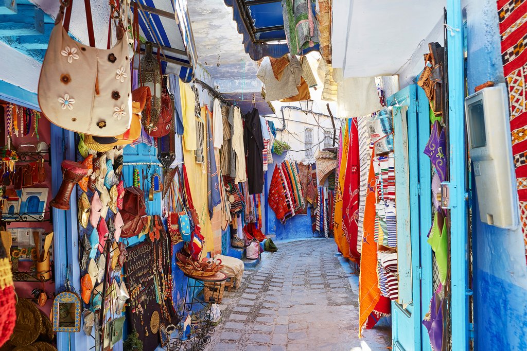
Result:
[[[282,16],[291,54],[300,55],[304,49],[318,44],[317,19],[311,0],[282,0]]]

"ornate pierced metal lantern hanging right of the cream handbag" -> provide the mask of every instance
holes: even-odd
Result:
[[[139,81],[142,86],[150,87],[152,94],[150,115],[143,113],[141,123],[147,132],[158,123],[161,113],[161,65],[152,54],[152,43],[147,42],[146,52],[141,57]]]

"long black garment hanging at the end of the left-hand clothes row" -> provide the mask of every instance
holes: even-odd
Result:
[[[264,191],[264,137],[262,136],[260,114],[256,108],[245,116],[243,138],[247,151],[248,190],[249,194],[260,194]]]

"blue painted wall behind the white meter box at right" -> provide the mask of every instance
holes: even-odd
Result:
[[[504,77],[496,2],[470,0],[463,1],[463,5],[471,94],[475,86],[489,80],[504,82]],[[472,198],[476,349],[499,345],[504,350],[525,350],[527,267],[521,229],[505,230],[482,223],[475,189]]]

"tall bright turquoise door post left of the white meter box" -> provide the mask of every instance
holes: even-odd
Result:
[[[452,347],[469,349],[468,191],[465,148],[465,56],[461,0],[447,0],[448,135],[450,140],[450,256]]]

